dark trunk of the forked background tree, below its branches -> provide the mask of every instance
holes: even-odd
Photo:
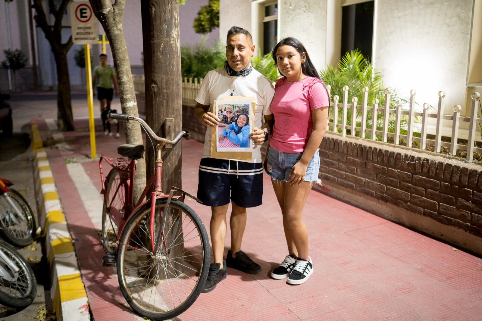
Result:
[[[60,131],[74,130],[72,101],[70,100],[70,78],[68,76],[67,53],[55,56],[57,67],[57,127]]]

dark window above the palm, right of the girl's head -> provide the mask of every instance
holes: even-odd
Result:
[[[343,6],[341,56],[345,55],[347,52],[358,49],[365,58],[371,60],[373,44],[373,14],[374,1]]]

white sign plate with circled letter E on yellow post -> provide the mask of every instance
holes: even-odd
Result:
[[[70,22],[72,24],[72,42],[75,44],[97,43],[97,19],[89,1],[70,4]]]

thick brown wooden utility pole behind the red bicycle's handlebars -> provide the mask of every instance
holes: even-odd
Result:
[[[146,86],[146,120],[158,136],[169,139],[182,129],[179,4],[173,0],[141,1]],[[179,142],[162,153],[162,191],[181,186]],[[154,171],[152,148],[147,147],[147,177]]]

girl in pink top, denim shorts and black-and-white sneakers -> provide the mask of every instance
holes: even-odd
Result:
[[[289,284],[302,284],[313,273],[303,207],[313,184],[321,183],[318,148],[326,132],[330,99],[300,41],[281,40],[272,57],[282,78],[276,81],[271,102],[274,125],[267,174],[281,207],[288,255],[271,277],[288,278]]]

